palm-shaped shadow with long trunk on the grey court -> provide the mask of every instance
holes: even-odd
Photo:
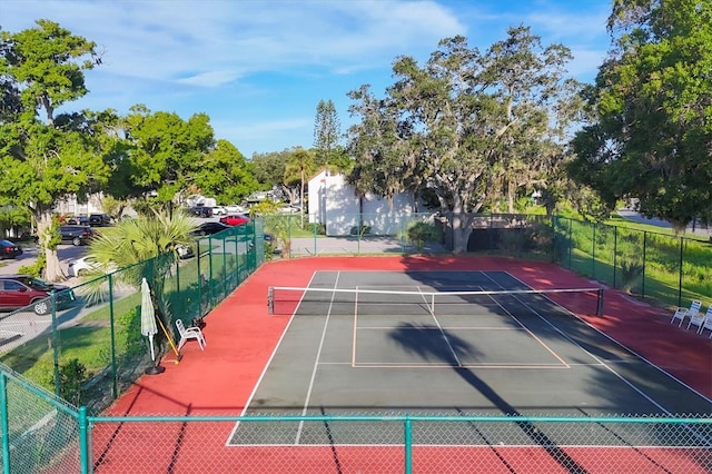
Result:
[[[434,337],[434,333],[439,333],[441,337]],[[427,324],[416,325],[403,323],[393,329],[389,336],[393,340],[400,344],[409,354],[418,354],[426,361],[435,359],[448,364],[459,377],[486,397],[503,414],[515,417],[513,423],[515,423],[532,442],[544,448],[546,453],[567,472],[587,472],[538,427],[526,419],[517,419],[522,415],[514,406],[500,396],[494,388],[479,378],[474,372],[467,367],[463,367],[459,357],[472,357],[476,353],[472,344],[447,329]],[[454,408],[461,412],[459,408]]]

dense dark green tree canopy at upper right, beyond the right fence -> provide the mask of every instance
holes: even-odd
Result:
[[[712,3],[615,0],[615,39],[585,91],[572,175],[684,228],[712,221]]]

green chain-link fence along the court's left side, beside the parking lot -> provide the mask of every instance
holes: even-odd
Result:
[[[56,396],[100,413],[152,365],[141,335],[142,278],[160,324],[158,357],[186,325],[209,313],[264,261],[263,223],[197,239],[194,257],[172,253],[85,280],[0,319],[0,362]],[[34,310],[47,307],[46,314]]]

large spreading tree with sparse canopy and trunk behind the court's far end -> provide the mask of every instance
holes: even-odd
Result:
[[[463,37],[444,39],[424,66],[396,59],[396,82],[377,99],[368,86],[350,92],[356,160],[349,180],[393,197],[427,189],[437,196],[464,250],[473,213],[545,187],[563,154],[574,92],[565,78],[568,49],[542,47],[527,27],[481,52]]]

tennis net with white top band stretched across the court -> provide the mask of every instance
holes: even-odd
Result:
[[[271,315],[467,315],[492,308],[603,315],[603,288],[423,292],[273,286],[267,305]]]

